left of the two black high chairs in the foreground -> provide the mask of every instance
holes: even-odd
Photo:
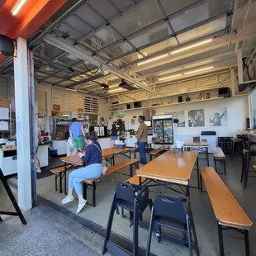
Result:
[[[153,201],[149,199],[149,188],[141,187],[129,183],[116,183],[116,192],[111,205],[110,215],[107,222],[107,232],[103,246],[102,254],[105,254],[109,249],[114,255],[130,255],[124,249],[111,243],[111,225],[114,218],[114,213],[119,214],[119,207],[130,212],[130,226],[133,225],[133,256],[138,255],[138,235],[139,221],[146,207],[150,209],[153,206]]]

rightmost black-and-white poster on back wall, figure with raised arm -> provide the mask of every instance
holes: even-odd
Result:
[[[228,126],[227,107],[217,107],[210,110],[209,126]]]

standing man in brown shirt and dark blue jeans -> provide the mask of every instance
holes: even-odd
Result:
[[[140,152],[140,164],[147,164],[146,145],[148,141],[148,126],[145,124],[145,116],[139,116],[139,129],[137,131],[137,145]]]

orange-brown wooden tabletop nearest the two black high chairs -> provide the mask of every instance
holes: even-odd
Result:
[[[169,150],[139,168],[136,173],[140,177],[187,185],[197,156],[198,152],[186,151],[183,154],[175,154]]]

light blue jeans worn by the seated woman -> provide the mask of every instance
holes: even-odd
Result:
[[[83,194],[81,183],[85,179],[99,178],[102,175],[102,164],[91,164],[69,174],[69,187],[75,189],[78,196]]]

